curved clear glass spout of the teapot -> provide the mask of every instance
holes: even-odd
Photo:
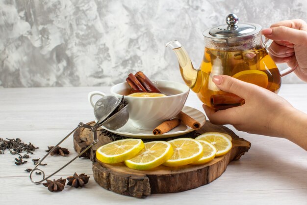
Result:
[[[193,67],[191,59],[189,55],[186,53],[185,49],[177,40],[172,40],[168,42],[165,46],[170,47],[175,52],[179,62],[181,77],[184,83],[188,87],[190,87],[194,92],[198,92],[199,88],[196,88],[197,87],[196,81],[198,77],[201,77],[198,76],[201,75],[201,72],[199,72],[200,70],[197,70]]]

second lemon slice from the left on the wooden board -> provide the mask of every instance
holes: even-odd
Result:
[[[155,168],[173,155],[173,147],[164,141],[153,141],[144,144],[145,147],[132,159],[125,161],[127,167],[136,170]]]

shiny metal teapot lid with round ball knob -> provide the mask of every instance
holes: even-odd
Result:
[[[235,14],[226,17],[226,24],[206,29],[203,35],[213,39],[228,39],[250,36],[258,33],[262,27],[253,23],[239,23],[239,18]]]

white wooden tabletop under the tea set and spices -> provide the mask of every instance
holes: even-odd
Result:
[[[215,181],[193,190],[146,199],[115,194],[94,181],[91,161],[81,158],[54,178],[85,173],[91,177],[84,188],[66,186],[51,193],[42,184],[31,183],[24,171],[34,167],[31,159],[42,158],[47,146],[59,142],[78,122],[93,120],[87,102],[87,93],[93,90],[109,93],[109,87],[0,89],[0,138],[21,138],[40,147],[21,166],[14,164],[15,155],[0,155],[0,205],[307,205],[307,152],[287,140],[239,132],[232,126],[228,127],[252,143],[251,149]],[[282,85],[280,95],[307,113],[307,84]],[[186,105],[203,111],[192,92]],[[41,166],[47,176],[76,156],[72,137],[63,147],[71,154],[48,157],[48,165]]]

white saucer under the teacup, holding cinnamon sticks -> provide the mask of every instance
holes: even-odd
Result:
[[[199,121],[201,123],[201,126],[205,124],[206,118],[201,111],[195,108],[184,106],[182,112],[194,118],[195,120]],[[170,130],[167,133],[164,133],[162,135],[153,135],[153,130],[140,130],[135,128],[132,125],[132,121],[130,119],[123,127],[117,130],[109,130],[103,126],[102,128],[117,135],[131,137],[131,138],[141,138],[141,139],[151,139],[151,138],[158,139],[158,138],[175,137],[194,131],[194,129],[192,129],[191,127],[188,127],[185,124],[181,123],[179,126],[175,127],[174,129]]]

